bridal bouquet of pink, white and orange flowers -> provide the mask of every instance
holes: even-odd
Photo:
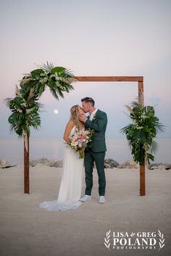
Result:
[[[79,158],[84,157],[84,150],[91,147],[91,141],[94,131],[91,129],[85,131],[77,131],[72,134],[70,148],[78,152]]]

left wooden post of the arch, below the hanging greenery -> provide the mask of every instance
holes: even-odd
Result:
[[[29,134],[24,135],[24,193],[29,194]]]

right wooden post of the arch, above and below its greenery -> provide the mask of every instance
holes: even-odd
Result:
[[[143,104],[143,81],[138,81],[138,101]],[[145,165],[140,165],[140,195],[146,195]]]

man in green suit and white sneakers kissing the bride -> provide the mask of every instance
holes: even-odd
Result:
[[[107,114],[94,107],[94,100],[86,97],[81,99],[83,110],[90,115],[80,116],[80,121],[84,122],[86,127],[93,128],[94,134],[91,149],[85,151],[85,170],[86,170],[86,191],[80,199],[86,202],[91,199],[91,190],[93,188],[93,162],[96,163],[96,169],[99,176],[99,204],[104,204],[106,178],[104,173],[104,157],[107,151],[105,143],[105,131],[107,128]]]

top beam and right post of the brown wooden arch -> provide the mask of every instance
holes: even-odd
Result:
[[[75,78],[80,82],[138,82],[138,100],[143,101],[143,76],[75,76]],[[140,165],[140,196],[145,195],[145,165]]]

